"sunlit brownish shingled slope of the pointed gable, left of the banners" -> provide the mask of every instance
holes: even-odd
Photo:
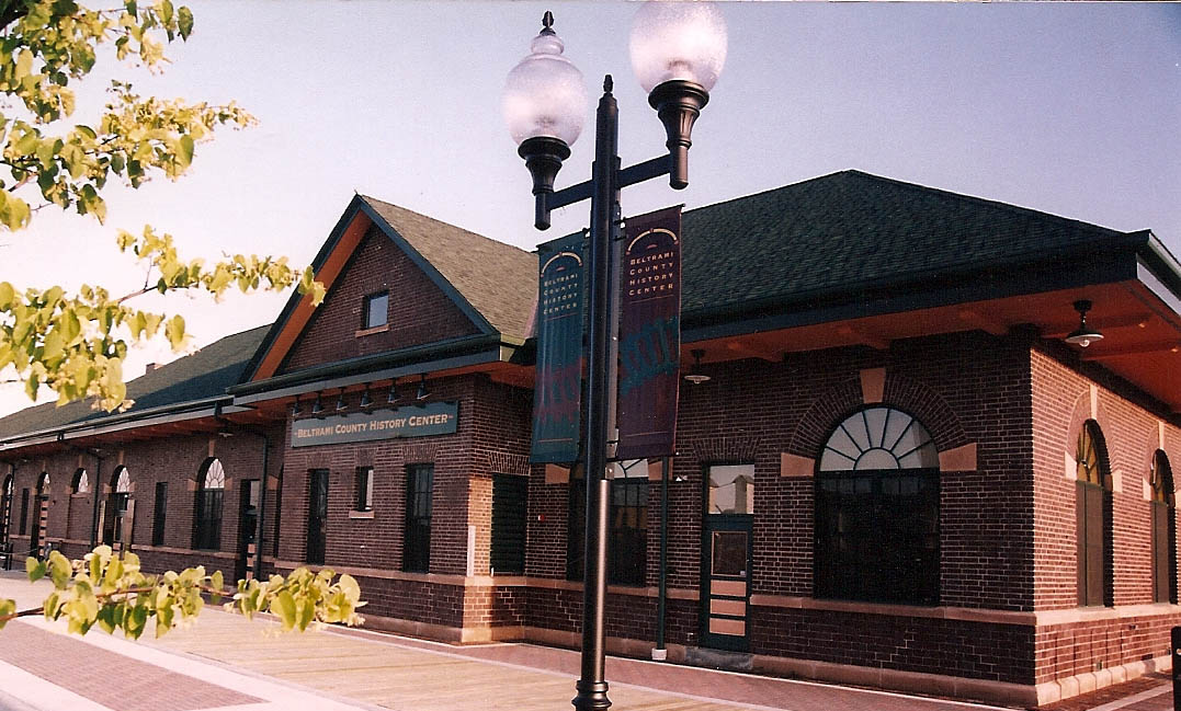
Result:
[[[537,296],[537,255],[360,196],[456,290],[505,336],[529,335],[529,317]]]

